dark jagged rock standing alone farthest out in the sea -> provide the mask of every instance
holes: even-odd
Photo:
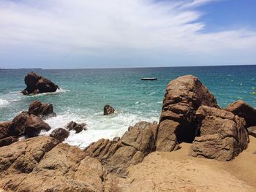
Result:
[[[45,77],[35,74],[34,72],[27,74],[24,80],[27,86],[26,89],[21,92],[24,95],[56,92],[59,88],[58,85],[54,84]]]

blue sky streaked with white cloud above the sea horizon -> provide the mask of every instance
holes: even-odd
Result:
[[[255,0],[0,0],[0,68],[256,64]]]

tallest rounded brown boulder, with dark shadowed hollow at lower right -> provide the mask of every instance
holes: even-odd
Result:
[[[176,150],[178,142],[194,140],[197,135],[195,111],[200,105],[218,107],[214,96],[197,77],[186,75],[169,82],[159,120],[157,150]]]

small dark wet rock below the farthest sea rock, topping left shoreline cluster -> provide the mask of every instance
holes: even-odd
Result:
[[[44,104],[41,101],[34,101],[29,105],[29,115],[37,115],[40,118],[55,117],[53,112],[53,104]]]

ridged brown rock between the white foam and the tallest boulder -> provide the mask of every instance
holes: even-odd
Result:
[[[130,164],[138,164],[155,150],[157,123],[140,122],[129,127],[116,141],[99,139],[84,150],[86,155],[99,159],[108,172],[127,174]]]

